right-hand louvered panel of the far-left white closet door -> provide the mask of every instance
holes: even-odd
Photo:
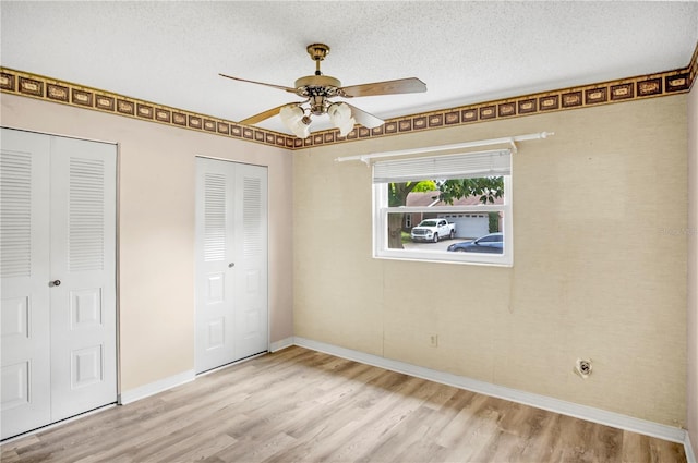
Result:
[[[52,138],[51,417],[117,397],[116,147]]]

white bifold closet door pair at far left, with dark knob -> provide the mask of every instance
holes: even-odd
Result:
[[[2,129],[2,438],[117,399],[116,145]]]

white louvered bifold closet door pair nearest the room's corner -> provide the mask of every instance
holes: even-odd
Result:
[[[268,346],[267,171],[196,158],[196,373]]]

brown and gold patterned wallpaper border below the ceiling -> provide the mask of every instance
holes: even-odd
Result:
[[[698,45],[690,63],[679,70],[388,119],[382,126],[371,130],[357,126],[346,137],[340,136],[338,130],[314,132],[305,139],[5,68],[0,68],[0,92],[287,149],[302,149],[675,95],[689,92],[697,75]]]

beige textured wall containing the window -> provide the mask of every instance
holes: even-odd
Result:
[[[684,426],[686,100],[297,153],[296,336]],[[371,170],[334,158],[541,131],[514,156],[513,268],[371,257]]]

